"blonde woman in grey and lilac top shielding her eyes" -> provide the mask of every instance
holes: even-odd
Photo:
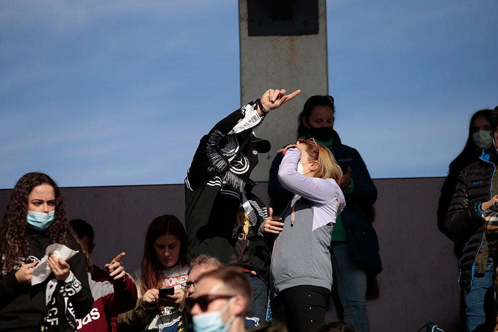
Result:
[[[338,184],[342,170],[314,140],[299,138],[279,152],[285,155],[278,179],[294,197],[281,218],[270,216],[259,229],[262,235],[277,234],[271,261],[274,313],[289,332],[315,331],[325,323],[332,288],[329,250],[336,217],[345,206]]]

